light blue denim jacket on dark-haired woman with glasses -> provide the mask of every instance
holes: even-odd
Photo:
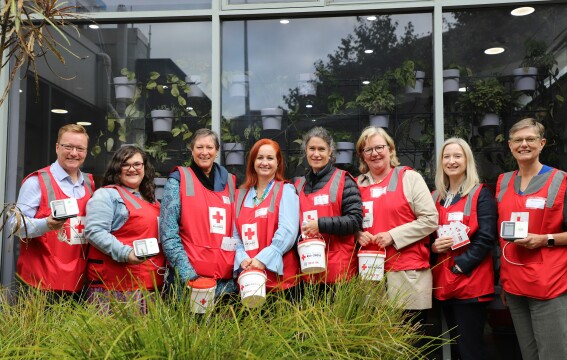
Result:
[[[134,196],[142,198],[139,192],[125,186],[124,188]],[[97,249],[112,257],[112,260],[125,263],[133,249],[111,233],[124,226],[129,217],[128,208],[118,190],[100,188],[87,203],[85,238]]]

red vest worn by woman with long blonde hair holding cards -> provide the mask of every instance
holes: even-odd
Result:
[[[462,218],[461,223],[469,227],[469,239],[478,230],[477,204],[482,185],[476,185],[471,192],[461,198],[456,204],[445,208],[438,199],[438,193],[433,193],[435,207],[439,212],[439,225],[449,225],[450,214],[458,214],[453,218]],[[472,271],[470,276],[454,274],[451,268],[455,265],[454,258],[465,253],[468,245],[455,250],[437,254],[437,263],[431,269],[433,273],[433,296],[438,300],[447,299],[473,299],[479,301],[492,300],[494,293],[494,268],[492,255],[488,253],[482,262]]]

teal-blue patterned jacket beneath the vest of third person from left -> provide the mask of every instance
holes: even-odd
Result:
[[[224,167],[218,164],[214,166],[214,191],[223,191],[228,176],[232,175],[229,174]],[[159,214],[159,233],[165,258],[173,270],[177,271],[179,280],[185,284],[188,280],[197,279],[199,275],[193,268],[193,265],[191,265],[187,252],[185,252],[185,248],[181,242],[181,237],[179,236],[179,220],[181,218],[179,176],[179,172],[175,171],[169,176],[165,183]],[[236,290],[236,283],[233,279],[217,279],[216,297],[223,293],[236,292]]]

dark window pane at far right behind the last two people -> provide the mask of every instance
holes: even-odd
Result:
[[[445,136],[470,141],[481,180],[489,184],[496,183],[498,174],[516,169],[508,130],[525,117],[548,129],[541,161],[558,168],[567,165],[567,139],[558,131],[564,128],[559,114],[565,112],[567,95],[560,86],[567,66],[567,8],[537,6],[524,16],[512,15],[513,9],[443,14]],[[500,50],[486,54],[490,48]]]

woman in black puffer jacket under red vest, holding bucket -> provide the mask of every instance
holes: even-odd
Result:
[[[358,270],[354,234],[362,220],[360,192],[352,176],[333,165],[335,142],[327,130],[309,130],[302,149],[310,170],[295,181],[301,231],[307,237],[322,236],[327,254],[327,271],[305,280],[325,284],[349,280]]]

